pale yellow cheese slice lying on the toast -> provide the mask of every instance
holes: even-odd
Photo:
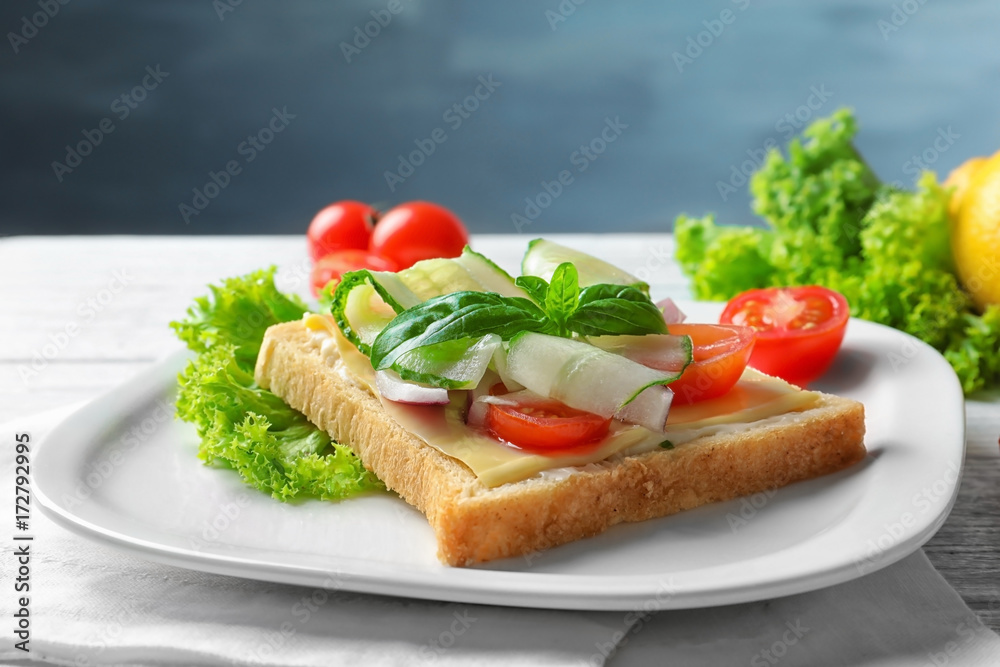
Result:
[[[597,463],[623,452],[631,455],[655,450],[665,441],[680,446],[710,432],[739,429],[750,422],[806,410],[819,400],[816,392],[747,369],[726,395],[672,407],[665,433],[613,421],[609,435],[586,452],[543,456],[502,443],[466,425],[466,392],[450,392],[452,401],[448,405],[405,405],[383,399],[375,389],[375,371],[368,357],[344,338],[331,317],[307,313],[303,322],[313,332],[313,340],[327,364],[338,374],[378,396],[386,413],[400,426],[442,454],[464,463],[489,487],[547,470]]]

